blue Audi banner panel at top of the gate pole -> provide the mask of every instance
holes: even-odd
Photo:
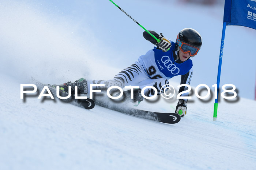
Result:
[[[256,0],[225,0],[223,22],[256,29]]]

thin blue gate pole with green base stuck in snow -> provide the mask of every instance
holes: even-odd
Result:
[[[226,22],[223,22],[222,36],[221,36],[221,51],[219,52],[219,68],[218,68],[218,76],[217,76],[217,99],[215,99],[215,103],[214,103],[213,121],[217,120],[219,82],[221,80],[221,64],[222,64],[222,56],[223,56],[223,49],[224,49],[225,31],[226,31]]]

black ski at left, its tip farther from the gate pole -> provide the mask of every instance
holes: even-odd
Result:
[[[54,96],[54,98],[57,98],[57,91],[56,88],[50,86],[49,84],[43,84],[41,82],[39,82],[38,80],[34,79],[33,77],[31,78],[32,82],[37,86],[38,89],[42,90],[44,88],[44,86],[48,86],[50,92],[52,93],[52,95]],[[68,96],[68,93],[65,93],[63,91],[59,91],[59,94],[61,97],[66,97]],[[60,99],[61,102],[65,102],[65,103],[71,103],[75,106],[79,106],[79,107],[84,107],[87,110],[90,110],[92,108],[94,108],[95,103],[92,99],[75,99],[75,95],[71,95],[70,98],[68,99]]]

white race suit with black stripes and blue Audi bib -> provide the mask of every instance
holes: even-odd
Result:
[[[154,31],[150,32],[156,37],[159,36]],[[143,36],[151,43],[157,43],[147,32],[144,32]],[[131,85],[139,86],[142,89],[145,86],[154,86],[158,94],[163,92],[161,91],[162,86],[169,84],[168,79],[177,75],[181,75],[181,84],[190,84],[193,74],[192,60],[188,59],[182,62],[177,59],[175,43],[171,41],[171,44],[172,46],[167,52],[163,52],[154,47],[153,50],[149,50],[145,55],[140,56],[138,61],[120,71],[111,80],[92,80],[88,81],[88,84],[105,84],[105,88],[111,86],[124,88],[125,86]],[[179,92],[184,90],[187,89],[181,87]],[[153,96],[154,94],[154,90],[151,88],[144,91],[144,95],[146,96]],[[182,96],[188,96],[188,93]]]

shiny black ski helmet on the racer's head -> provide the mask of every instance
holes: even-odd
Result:
[[[197,48],[201,48],[202,46],[202,37],[200,35],[199,32],[197,32],[195,29],[192,28],[184,28],[182,29],[178,35],[177,35],[177,39],[180,39],[181,42],[183,43],[187,43],[191,46],[197,47]],[[179,46],[176,40],[175,43],[175,51],[179,51]]]

